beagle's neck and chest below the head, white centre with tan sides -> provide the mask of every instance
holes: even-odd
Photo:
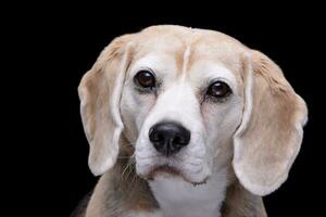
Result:
[[[127,158],[118,158],[100,178],[84,210],[87,217],[266,217],[261,196],[243,189],[229,169],[214,173],[204,184],[192,186],[177,177],[156,176],[147,181],[133,166],[124,173],[126,165]]]

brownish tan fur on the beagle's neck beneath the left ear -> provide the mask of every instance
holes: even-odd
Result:
[[[99,180],[89,201],[86,216],[118,217],[129,212],[154,210],[158,204],[147,182],[135,173],[133,148],[123,139],[115,166]]]

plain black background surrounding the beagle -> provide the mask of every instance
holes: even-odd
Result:
[[[178,24],[230,35],[261,50],[284,69],[308,103],[309,123],[289,179],[264,201],[269,216],[318,215],[325,175],[321,139],[325,24],[317,7],[261,5],[247,11],[240,5],[238,10],[213,4],[172,10],[174,5],[152,4],[154,9],[141,11],[129,4],[128,9],[99,4],[83,10],[49,4],[25,11],[17,21],[15,15],[7,16],[14,41],[8,42],[8,56],[14,62],[11,84],[22,87],[4,92],[22,130],[11,138],[23,144],[21,153],[27,155],[15,175],[25,180],[22,189],[30,190],[15,194],[20,196],[14,196],[14,203],[30,202],[28,210],[33,208],[35,215],[68,216],[97,181],[87,166],[88,143],[79,116],[77,86],[82,76],[114,37],[154,24]]]

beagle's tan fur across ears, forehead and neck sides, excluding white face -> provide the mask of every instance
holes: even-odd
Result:
[[[242,88],[240,95],[246,98],[235,149],[224,150],[225,157],[230,153],[235,157],[233,164],[229,157],[226,165],[230,169],[222,216],[266,216],[259,195],[271,193],[287,177],[301,144],[302,125],[306,120],[304,101],[273,61],[229,36],[179,26],[153,26],[115,39],[79,85],[82,117],[90,143],[89,166],[96,175],[104,173],[86,217],[159,209],[147,181],[136,175],[130,144],[134,141],[126,139],[122,119],[116,117],[121,98],[116,84],[123,84],[127,68],[153,50],[173,56],[181,72],[187,48],[191,49],[187,68],[201,60],[222,63],[234,73]]]

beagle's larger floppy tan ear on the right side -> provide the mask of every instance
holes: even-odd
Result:
[[[308,110],[272,60],[258,51],[244,59],[244,108],[234,137],[233,166],[247,190],[266,195],[288,177]]]

